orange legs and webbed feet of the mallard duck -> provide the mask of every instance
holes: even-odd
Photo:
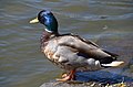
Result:
[[[63,74],[61,79],[57,79],[58,81],[66,81],[66,80],[71,80],[71,79],[74,79],[74,74],[75,74],[75,69],[73,70],[70,70],[70,74],[66,75],[66,74]]]

